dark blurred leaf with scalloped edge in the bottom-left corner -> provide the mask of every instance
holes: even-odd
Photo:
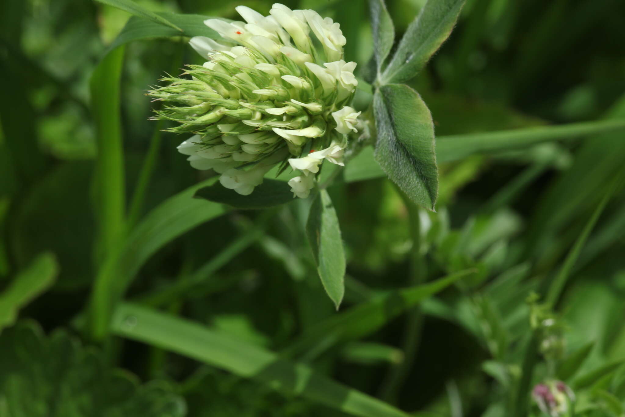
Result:
[[[106,366],[64,331],[49,337],[24,322],[0,337],[3,417],[183,417],[184,400],[164,383],[139,386],[127,371]]]

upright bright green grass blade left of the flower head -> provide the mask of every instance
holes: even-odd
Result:
[[[91,76],[91,107],[96,125],[98,158],[94,173],[98,223],[98,258],[113,251],[124,233],[126,184],[119,88],[124,48],[104,57]]]

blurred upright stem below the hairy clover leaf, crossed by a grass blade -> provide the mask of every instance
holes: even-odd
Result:
[[[427,265],[424,254],[421,253],[421,219],[419,218],[419,208],[412,203],[406,194],[397,189],[401,195],[408,213],[410,233],[412,237],[412,252],[410,258],[409,286],[422,284],[427,279]],[[401,350],[404,352],[404,360],[398,364],[392,364],[389,372],[382,383],[380,398],[385,401],[395,402],[399,395],[402,384],[406,381],[411,371],[412,363],[419,349],[421,341],[421,329],[423,326],[423,313],[419,306],[412,308],[407,313],[404,340]]]

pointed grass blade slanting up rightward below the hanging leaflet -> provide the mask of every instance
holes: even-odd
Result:
[[[371,301],[335,314],[330,318],[311,326],[294,343],[287,348],[289,354],[299,354],[311,346],[331,339],[332,343],[363,338],[384,326],[407,309],[416,306],[426,298],[447,288],[447,286],[473,273],[475,269],[467,269],[432,283],[413,286],[406,289],[391,291],[377,296]]]

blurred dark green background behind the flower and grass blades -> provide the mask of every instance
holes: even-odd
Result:
[[[152,11],[231,19],[237,19],[239,4],[262,14],[271,8],[268,1],[244,0],[137,3]],[[366,67],[372,43],[365,1],[283,3],[339,22],[347,38],[346,59],[357,61],[358,69]],[[424,3],[387,1],[397,33]],[[620,0],[468,0],[451,38],[410,84],[431,109],[437,136],[625,118],[624,16]],[[124,11],[86,0],[4,0],[0,6],[0,288],[37,254],[53,252],[59,264],[56,282],[21,311],[46,331],[80,328],[76,317],[101,262],[94,243],[98,152],[89,79],[128,18]],[[176,151],[184,138],[163,133],[154,139],[157,123],[148,120],[153,104],[144,96],[164,73],[202,63],[186,41],[153,39],[126,46],[121,131],[127,201],[133,199],[148,149],[158,147],[138,216],[204,178]],[[355,106],[364,109],[368,99],[359,93]],[[529,329],[524,300],[557,272],[613,180],[625,175],[624,158],[624,134],[606,133],[441,164],[437,213],[419,211],[422,238],[416,243],[409,211],[389,181],[332,187],[348,261],[341,309],[413,284],[408,271],[416,251],[426,271],[421,279],[469,266],[477,266],[481,276],[446,289],[420,312],[402,314],[366,338],[298,358],[407,411],[512,415],[493,408],[505,406],[501,398],[508,389],[497,366],[505,375],[519,372],[518,351]],[[594,342],[582,373],[625,358],[622,189],[621,181],[557,308],[567,352]],[[312,324],[336,314],[301,231],[305,210],[297,201],[266,213],[231,211],[201,224],[152,256],[126,298],[145,301],[146,294],[170,288],[234,244],[197,282],[148,305],[280,351]],[[501,274],[517,275],[508,275],[509,287],[492,289],[489,283],[504,282],[496,280]],[[496,325],[489,322],[492,317]],[[484,320],[491,331],[484,330]],[[421,332],[414,331],[421,326]],[[414,340],[406,340],[412,333]],[[155,346],[113,344],[109,363],[144,381],[168,379],[186,399],[189,416],[345,415],[215,368],[198,368],[195,361]],[[613,378],[601,388],[622,401],[625,373],[611,372],[601,374]],[[591,394],[588,398],[594,401]],[[617,415],[597,407],[597,413],[606,413],[597,416]]]

